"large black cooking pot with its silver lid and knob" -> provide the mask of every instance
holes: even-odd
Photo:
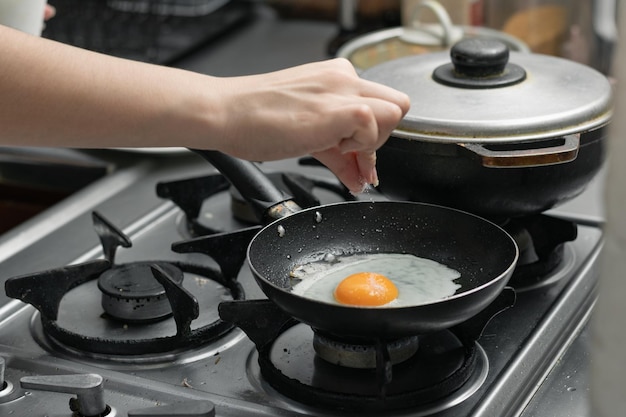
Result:
[[[612,87],[585,65],[466,39],[361,76],[411,98],[378,151],[392,198],[492,219],[536,214],[580,194],[604,161]]]

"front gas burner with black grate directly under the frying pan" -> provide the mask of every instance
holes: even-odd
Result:
[[[506,288],[485,310],[453,328],[400,342],[372,341],[373,367],[361,366],[359,360],[358,366],[342,366],[322,358],[315,330],[271,301],[223,302],[219,312],[254,342],[263,380],[298,403],[349,412],[434,413],[469,398],[485,381],[488,360],[478,339],[487,323],[514,300],[515,292]],[[401,349],[407,356],[402,360],[391,357],[398,346],[408,346]]]

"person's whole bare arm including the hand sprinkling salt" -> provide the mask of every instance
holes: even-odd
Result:
[[[114,58],[0,26],[0,143],[181,146],[249,160],[312,154],[353,191],[375,183],[375,151],[406,95],[345,60],[211,77]]]

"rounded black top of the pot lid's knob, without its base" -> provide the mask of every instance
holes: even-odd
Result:
[[[450,50],[457,73],[467,77],[501,74],[509,62],[509,48],[494,39],[464,39]]]

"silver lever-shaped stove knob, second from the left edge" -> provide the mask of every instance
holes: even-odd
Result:
[[[20,379],[22,388],[41,391],[62,392],[75,394],[77,411],[82,416],[105,415],[107,405],[104,402],[104,384],[102,376],[98,374],[76,375],[39,375],[25,376]]]

